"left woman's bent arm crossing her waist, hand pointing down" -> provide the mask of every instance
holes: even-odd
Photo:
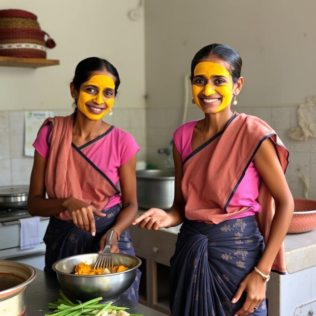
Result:
[[[45,173],[47,161],[36,150],[27,197],[27,211],[32,216],[54,216],[68,210],[74,224],[81,229],[95,235],[94,214],[106,216],[91,204],[74,197],[47,199],[45,188]]]

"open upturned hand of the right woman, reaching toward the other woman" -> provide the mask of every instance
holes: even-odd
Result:
[[[159,228],[169,228],[172,224],[173,218],[164,210],[151,208],[148,211],[137,217],[132,225],[139,223],[139,228],[147,228],[158,230]]]

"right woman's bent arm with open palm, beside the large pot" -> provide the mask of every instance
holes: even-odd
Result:
[[[174,199],[168,213],[164,210],[151,208],[135,219],[132,223],[139,223],[140,228],[157,230],[163,227],[173,227],[180,225],[184,220],[185,199],[182,195],[181,180],[183,177],[183,163],[178,149],[173,143],[173,161],[174,161]]]

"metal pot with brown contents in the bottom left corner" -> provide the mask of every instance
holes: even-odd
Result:
[[[36,276],[28,264],[0,260],[0,315],[20,316],[26,311],[26,286]]]

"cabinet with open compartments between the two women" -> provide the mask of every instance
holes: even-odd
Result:
[[[135,254],[142,260],[139,302],[170,315],[169,309],[169,260],[177,241],[177,228],[158,231],[130,227]]]

